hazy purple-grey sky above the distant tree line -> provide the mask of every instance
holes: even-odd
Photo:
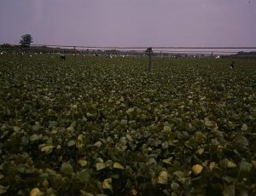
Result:
[[[1,0],[0,43],[26,33],[42,44],[254,47],[256,0]]]

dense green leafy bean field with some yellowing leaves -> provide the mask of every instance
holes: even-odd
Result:
[[[255,195],[256,61],[71,58],[0,56],[0,194]]]

